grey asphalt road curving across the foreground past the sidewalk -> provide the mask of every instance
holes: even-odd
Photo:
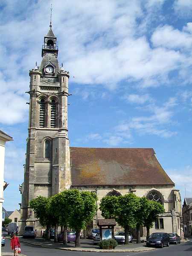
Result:
[[[1,247],[3,256],[13,256],[10,240],[6,239],[6,246]],[[29,245],[21,243],[21,256],[191,256],[192,255],[192,241],[182,244],[171,244],[169,247],[163,249],[156,249],[148,252],[122,252],[122,253],[100,253],[100,252],[80,252],[80,251],[67,251],[43,248],[40,246]]]

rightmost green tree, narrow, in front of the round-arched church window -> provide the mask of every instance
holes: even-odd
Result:
[[[143,226],[147,228],[147,237],[149,237],[149,230],[154,225],[154,221],[158,221],[159,214],[163,214],[165,209],[162,204],[156,201],[150,201],[151,209],[149,214],[146,216]]]

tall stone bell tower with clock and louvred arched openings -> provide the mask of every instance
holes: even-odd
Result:
[[[22,193],[20,232],[37,227],[29,202],[49,197],[71,185],[70,147],[67,137],[69,72],[58,65],[57,38],[50,29],[44,37],[40,67],[29,71],[29,128]]]

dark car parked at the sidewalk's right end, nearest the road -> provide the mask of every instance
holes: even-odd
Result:
[[[167,233],[159,232],[152,233],[151,236],[147,239],[146,246],[158,246],[163,248],[164,245],[169,246],[170,239]]]

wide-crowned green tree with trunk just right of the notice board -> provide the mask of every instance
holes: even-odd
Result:
[[[115,218],[116,222],[125,229],[125,244],[128,244],[128,230],[137,225],[135,215],[140,210],[140,198],[132,193],[119,197],[104,197],[99,209],[104,218]]]

